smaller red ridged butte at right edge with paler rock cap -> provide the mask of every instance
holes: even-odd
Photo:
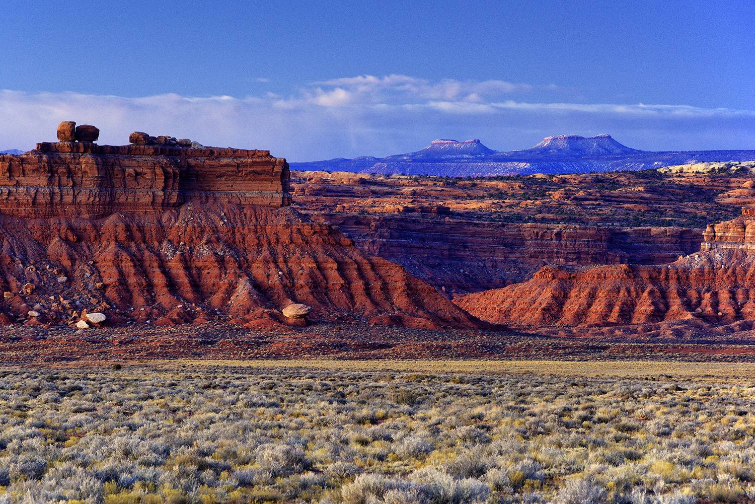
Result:
[[[671,264],[588,270],[547,266],[527,282],[456,302],[483,320],[530,329],[753,321],[755,233],[747,230],[755,229],[755,222],[750,211],[744,214],[709,227],[703,252]]]

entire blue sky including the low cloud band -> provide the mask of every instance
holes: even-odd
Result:
[[[601,133],[755,149],[750,0],[13,3],[0,150],[63,120],[289,161]]]

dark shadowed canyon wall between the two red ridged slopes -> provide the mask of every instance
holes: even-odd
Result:
[[[518,224],[406,215],[313,214],[365,252],[407,268],[448,294],[507,286],[545,264],[665,264],[698,251],[702,230]]]

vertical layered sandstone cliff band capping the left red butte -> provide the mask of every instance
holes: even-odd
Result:
[[[267,150],[72,141],[0,156],[5,215],[149,214],[189,202],[288,206],[288,163]]]

